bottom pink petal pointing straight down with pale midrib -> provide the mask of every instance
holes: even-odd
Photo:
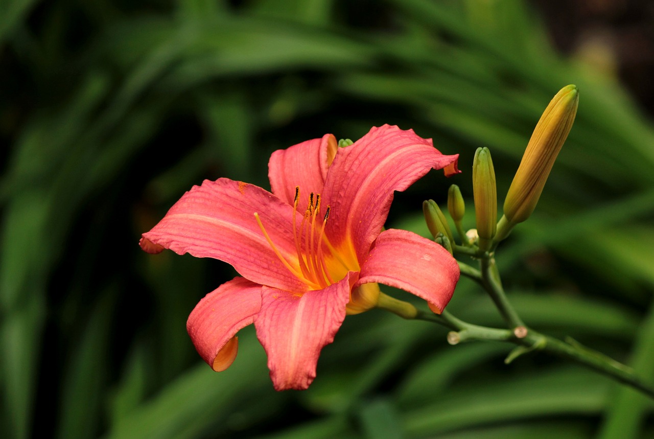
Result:
[[[323,290],[295,296],[263,287],[261,311],[254,318],[259,341],[268,355],[275,389],[307,389],[316,376],[320,349],[334,341],[345,319],[356,273]]]

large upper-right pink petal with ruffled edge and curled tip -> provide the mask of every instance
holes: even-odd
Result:
[[[444,156],[431,139],[397,126],[375,127],[350,147],[339,149],[322,194],[331,206],[326,234],[334,247],[354,243],[366,258],[388,216],[395,190],[405,190],[430,169],[456,168],[458,154]]]

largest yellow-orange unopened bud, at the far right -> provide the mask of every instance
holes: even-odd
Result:
[[[510,224],[523,222],[534,211],[549,171],[570,133],[578,104],[577,86],[565,86],[553,97],[536,124],[504,200],[504,216]]]

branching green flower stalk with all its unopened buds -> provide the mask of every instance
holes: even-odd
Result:
[[[380,296],[377,307],[392,311],[405,319],[431,321],[445,326],[450,330],[447,334],[447,342],[451,345],[469,340],[514,343],[516,347],[506,357],[507,364],[527,353],[542,351],[573,360],[654,399],[654,387],[638,378],[634,370],[625,364],[589,349],[571,338],[558,340],[528,328],[506,296],[495,262],[495,249],[498,243],[509,235],[515,224],[526,220],[534,211],[553,162],[574,122],[578,100],[576,86],[566,86],[545,109],[511,183],[504,203],[504,215],[499,222],[496,222],[496,186],[490,152],[487,148],[477,149],[472,175],[477,239],[469,240],[463,232],[461,220],[465,206],[458,186],[452,185],[448,191],[448,211],[464,243],[464,245],[452,246],[453,253],[472,257],[479,262],[479,270],[477,270],[458,261],[460,274],[479,283],[486,290],[506,322],[507,328],[473,325],[445,310],[439,314],[427,313],[412,304],[398,301],[385,294]],[[424,202],[422,207],[432,235],[438,243],[450,249],[447,243],[452,240],[451,231],[438,205],[433,200],[429,200]]]

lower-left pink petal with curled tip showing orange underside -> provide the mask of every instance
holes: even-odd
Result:
[[[235,277],[207,294],[191,311],[186,330],[200,357],[220,372],[236,357],[236,332],[254,321],[261,308],[261,285]]]

